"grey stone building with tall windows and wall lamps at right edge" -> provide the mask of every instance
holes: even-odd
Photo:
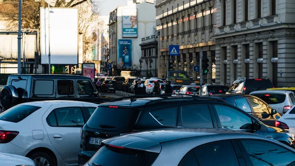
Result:
[[[216,83],[268,77],[295,83],[295,1],[216,0]]]

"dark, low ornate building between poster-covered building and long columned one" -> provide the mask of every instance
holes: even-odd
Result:
[[[158,37],[151,35],[142,38],[140,44],[142,55],[139,60],[140,75],[143,77],[158,76]]]

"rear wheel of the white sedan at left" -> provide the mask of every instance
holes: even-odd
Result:
[[[31,154],[29,158],[35,161],[37,165],[40,163],[44,163],[38,166],[47,166],[48,164],[49,166],[57,166],[54,158],[45,152],[35,152]]]

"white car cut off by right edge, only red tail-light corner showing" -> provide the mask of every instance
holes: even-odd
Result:
[[[289,109],[280,119],[276,122],[277,126],[289,130],[290,133],[295,133],[295,105]],[[286,124],[288,126],[286,126]],[[289,127],[289,129],[288,129]]]

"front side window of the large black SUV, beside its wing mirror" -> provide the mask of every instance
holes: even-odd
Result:
[[[251,130],[252,120],[246,114],[232,107],[224,105],[214,105],[219,116],[222,128]]]

